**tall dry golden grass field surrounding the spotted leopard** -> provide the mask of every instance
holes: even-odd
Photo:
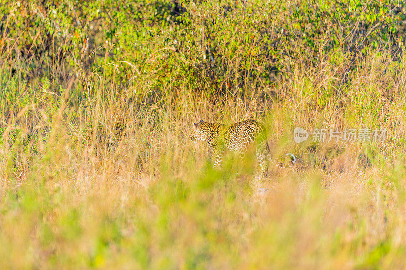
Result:
[[[61,92],[39,83],[18,112],[3,103],[2,267],[404,267],[406,64],[382,53],[364,61],[343,88],[342,67],[297,62],[276,87],[215,103],[143,82],[123,91],[79,69]],[[200,119],[249,118],[265,124],[274,155],[299,157],[293,170],[260,181],[255,162],[240,170],[232,155],[214,170],[207,147],[188,140]],[[295,144],[294,127],[387,138]]]

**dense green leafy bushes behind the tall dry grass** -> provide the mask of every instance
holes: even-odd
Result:
[[[326,60],[340,87],[370,51],[396,60],[405,42],[406,10],[393,0],[5,4],[1,49],[14,50],[3,78],[60,84],[95,70],[136,93],[142,82],[158,95],[244,95]]]

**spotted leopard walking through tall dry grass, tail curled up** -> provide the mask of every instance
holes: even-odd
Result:
[[[269,161],[280,168],[290,168],[296,163],[296,157],[292,153],[286,154],[290,157],[288,163],[276,162],[270,155],[264,125],[252,119],[231,125],[200,120],[198,123],[193,123],[189,137],[195,143],[201,140],[208,144],[209,152],[215,159],[213,164],[215,168],[221,166],[226,149],[238,153],[240,159],[243,160],[250,146],[255,147],[256,158],[261,168],[260,178],[267,176]]]

